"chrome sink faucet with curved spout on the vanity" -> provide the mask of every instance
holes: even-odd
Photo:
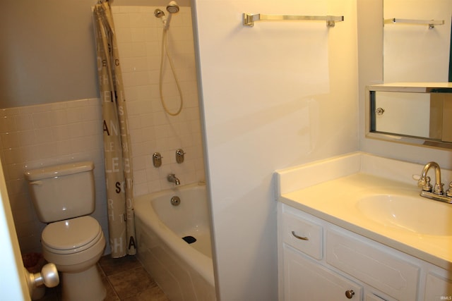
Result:
[[[429,169],[435,168],[435,186],[430,184],[430,177],[427,176]],[[443,190],[443,183],[441,183],[441,168],[436,162],[429,162],[422,168],[422,174],[417,181],[417,185],[422,188],[421,197],[427,197],[436,201],[447,202],[452,204],[452,182],[446,192]]]

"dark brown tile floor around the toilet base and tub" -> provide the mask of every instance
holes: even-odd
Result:
[[[135,256],[102,257],[97,264],[107,288],[105,301],[169,301]],[[61,290],[46,288],[40,301],[60,301]]]

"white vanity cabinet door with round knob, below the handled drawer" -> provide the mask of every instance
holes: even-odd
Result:
[[[284,300],[362,300],[362,287],[283,244]],[[348,295],[348,297],[347,297]]]

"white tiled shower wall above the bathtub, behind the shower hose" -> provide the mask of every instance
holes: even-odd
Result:
[[[167,32],[168,51],[184,101],[182,113],[169,116],[163,111],[159,93],[162,20],[154,16],[155,8],[166,13],[165,8],[112,8],[129,110],[135,195],[171,188],[168,173],[175,173],[182,184],[204,180],[191,9],[181,7],[172,16]],[[166,56],[162,82],[167,106],[177,111],[180,98]],[[178,148],[186,152],[183,164],[176,163]],[[160,168],[153,167],[154,152],[163,156]]]

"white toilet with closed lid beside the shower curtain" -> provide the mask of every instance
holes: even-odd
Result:
[[[104,300],[97,262],[105,250],[102,228],[88,214],[95,209],[91,161],[25,172],[42,231],[42,254],[57,266],[63,300]]]

